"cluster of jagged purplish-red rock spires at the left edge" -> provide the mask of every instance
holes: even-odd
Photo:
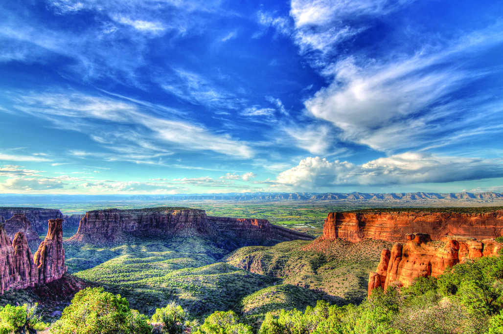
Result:
[[[4,224],[0,223],[0,294],[61,278],[66,272],[61,222],[62,219],[49,220],[47,236],[35,257],[23,232],[17,232],[11,243]]]

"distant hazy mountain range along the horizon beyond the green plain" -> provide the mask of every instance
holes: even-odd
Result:
[[[503,202],[503,194],[483,193],[227,193],[227,194],[178,194],[178,195],[18,195],[0,194],[0,206],[29,203],[78,203],[78,202],[275,202],[275,201],[337,201],[349,203],[397,203],[397,202]],[[425,203],[426,204],[426,203]]]

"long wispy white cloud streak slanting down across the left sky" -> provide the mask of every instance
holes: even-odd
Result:
[[[86,133],[88,128],[95,129],[91,138],[114,149],[117,159],[155,162],[152,158],[172,154],[174,150],[210,150],[236,158],[253,156],[245,143],[229,135],[212,134],[201,125],[176,120],[173,115],[157,117],[134,103],[82,94],[32,94],[18,99],[17,109],[49,119],[58,126]],[[169,149],[166,144],[170,144]],[[94,153],[73,154],[86,157]]]

